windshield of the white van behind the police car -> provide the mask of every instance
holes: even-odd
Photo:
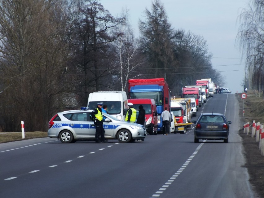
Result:
[[[89,102],[88,109],[95,109],[98,105],[97,103],[103,103],[107,105],[108,114],[116,115],[121,113],[121,102],[120,101],[92,101]]]

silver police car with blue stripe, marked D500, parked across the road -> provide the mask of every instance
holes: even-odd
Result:
[[[48,137],[57,138],[62,143],[94,140],[95,124],[92,121],[92,111],[82,108],[57,113],[49,121]],[[117,139],[119,142],[127,143],[134,139],[144,139],[147,135],[143,125],[121,121],[106,113],[102,114],[105,139]]]

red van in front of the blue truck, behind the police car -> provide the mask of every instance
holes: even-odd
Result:
[[[145,121],[148,134],[157,134],[158,127],[158,112],[154,99],[128,99],[129,103],[133,103],[133,108],[139,110],[139,105],[142,105],[146,111]]]

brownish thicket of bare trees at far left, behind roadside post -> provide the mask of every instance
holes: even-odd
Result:
[[[47,130],[57,96],[68,90],[64,6],[60,0],[0,1],[3,130],[18,130],[20,120],[26,130]]]

